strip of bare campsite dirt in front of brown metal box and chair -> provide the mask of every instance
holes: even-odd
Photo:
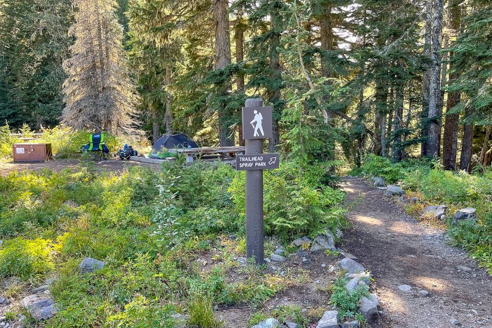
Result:
[[[100,171],[121,171],[131,166],[146,166],[155,170],[160,170],[161,166],[152,163],[142,163],[129,160],[108,159],[101,161],[91,161],[91,167],[98,172]],[[40,171],[43,169],[49,169],[52,171],[61,171],[65,169],[72,169],[74,171],[80,170],[80,168],[88,167],[88,162],[78,159],[58,159],[49,160],[46,162],[28,162],[28,163],[14,163],[12,161],[0,161],[0,176],[8,175],[14,171]]]

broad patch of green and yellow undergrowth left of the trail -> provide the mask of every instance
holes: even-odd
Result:
[[[316,179],[289,163],[265,173],[267,234],[287,243],[346,224],[343,194]],[[302,278],[255,267],[230,282],[227,271],[237,263],[226,251],[206,272],[197,265],[223,240],[244,256],[243,190],[243,172],[202,162],[176,161],[160,172],[86,168],[0,177],[0,279],[36,286],[57,277],[50,290],[59,312],[46,328],[166,327],[174,313],[190,315],[197,327],[218,327],[214,306],[258,306]],[[105,268],[80,275],[84,257]]]

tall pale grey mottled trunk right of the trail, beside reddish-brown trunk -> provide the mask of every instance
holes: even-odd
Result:
[[[430,66],[429,87],[429,142],[428,156],[439,156],[439,135],[441,130],[439,104],[441,98],[441,46],[442,46],[442,19],[444,0],[434,1],[434,15],[432,23],[432,64]]]

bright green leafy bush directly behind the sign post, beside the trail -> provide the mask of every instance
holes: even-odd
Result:
[[[230,190],[237,213],[244,213],[244,173],[237,173]],[[292,163],[264,172],[265,232],[283,240],[296,236],[317,236],[346,224],[338,206],[343,193],[320,186],[308,172],[300,175]]]

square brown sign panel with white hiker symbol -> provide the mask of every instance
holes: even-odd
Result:
[[[272,138],[272,107],[243,107],[242,137],[243,139]]]

